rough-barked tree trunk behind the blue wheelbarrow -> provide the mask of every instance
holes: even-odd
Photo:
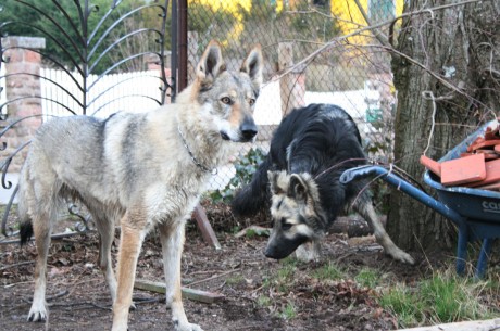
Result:
[[[405,13],[420,13],[402,20],[396,49],[404,56],[392,54],[395,164],[420,181],[422,154],[440,158],[500,110],[500,1],[423,11],[460,2],[405,1]],[[451,247],[454,238],[450,221],[397,190],[387,230],[405,250]]]

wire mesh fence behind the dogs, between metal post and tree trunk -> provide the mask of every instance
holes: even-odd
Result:
[[[242,148],[236,170],[220,171],[211,189],[226,188],[222,195],[230,198],[229,180],[235,173],[245,177],[245,167],[238,168],[238,163],[251,162],[255,149],[266,153],[282,118],[311,103],[345,109],[357,122],[370,156],[390,161],[396,91],[390,59],[379,41],[386,37],[375,36],[368,26],[386,26],[383,23],[401,11],[402,1],[395,0],[188,1],[189,81],[211,39],[222,43],[230,68],[240,65],[254,43],[262,46],[265,59],[265,82],[254,114],[260,126],[258,142]],[[390,33],[398,28],[390,27]]]

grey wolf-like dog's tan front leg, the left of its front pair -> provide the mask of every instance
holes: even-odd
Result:
[[[132,305],[132,292],[136,278],[137,259],[142,245],[145,233],[130,227],[122,220],[122,235],[117,263],[118,284],[116,301],[113,304],[112,331],[126,331],[128,322],[128,308]]]

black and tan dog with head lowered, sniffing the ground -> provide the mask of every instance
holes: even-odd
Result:
[[[382,226],[365,180],[342,184],[340,175],[365,164],[361,137],[340,107],[312,104],[292,111],[273,135],[267,157],[233,200],[236,215],[252,216],[271,203],[273,231],[264,254],[284,258],[296,249],[302,260],[318,259],[320,241],[351,204],[372,226],[392,258],[413,264]]]

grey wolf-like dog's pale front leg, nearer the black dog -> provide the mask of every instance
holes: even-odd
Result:
[[[183,306],[180,291],[180,256],[184,247],[185,220],[159,227],[165,271],[166,304],[172,309],[172,321],[177,331],[202,331],[200,326],[188,321]]]

